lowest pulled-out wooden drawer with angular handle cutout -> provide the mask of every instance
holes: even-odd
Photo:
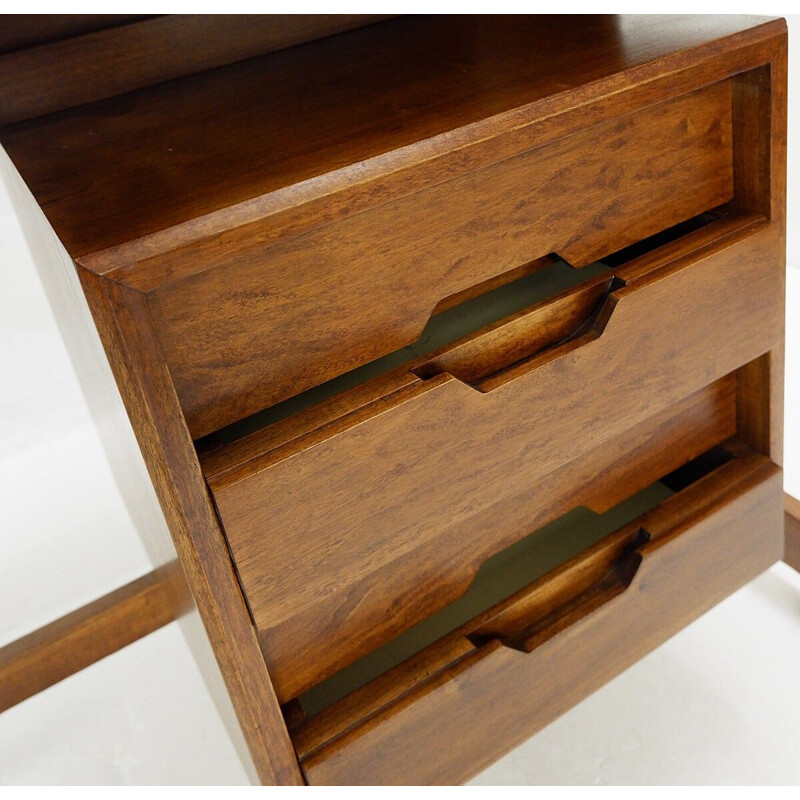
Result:
[[[307,780],[470,778],[779,559],[781,514],[780,470],[740,449],[562,567],[296,724]]]

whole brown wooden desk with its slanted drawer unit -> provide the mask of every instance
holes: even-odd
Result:
[[[156,570],[0,652],[3,707],[180,617],[254,779],[460,782],[780,559],[786,41],[4,19],[3,173]]]

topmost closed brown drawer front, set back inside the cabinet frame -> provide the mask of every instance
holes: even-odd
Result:
[[[733,196],[724,82],[281,242],[224,240],[149,295],[195,438],[419,336],[441,301],[558,252],[575,266]],[[240,233],[237,233],[237,236]],[[152,287],[141,287],[149,289]]]

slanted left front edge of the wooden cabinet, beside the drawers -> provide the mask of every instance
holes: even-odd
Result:
[[[87,270],[78,275],[258,775],[302,783],[143,298]]]

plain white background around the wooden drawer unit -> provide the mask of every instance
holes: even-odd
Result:
[[[800,495],[800,19],[789,22],[786,484]],[[0,244],[2,645],[149,563],[2,188]],[[800,576],[777,565],[476,782],[800,783],[799,664]],[[0,715],[0,783],[244,781],[175,625]]]

